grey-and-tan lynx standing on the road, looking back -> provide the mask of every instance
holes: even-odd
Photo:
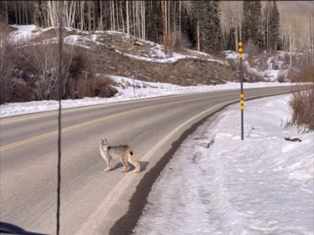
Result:
[[[105,171],[111,171],[112,161],[115,159],[119,159],[124,166],[124,168],[120,170],[120,172],[127,172],[130,169],[128,162],[135,166],[135,170],[133,172],[140,172],[140,164],[133,156],[133,151],[128,145],[110,146],[107,142],[107,139],[101,139],[99,151],[101,156],[107,162],[107,168],[105,169]]]

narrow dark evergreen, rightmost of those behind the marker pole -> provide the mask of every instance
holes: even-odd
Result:
[[[279,34],[280,34],[280,14],[278,11],[277,3],[274,0],[271,14],[271,25],[270,25],[270,46],[271,50],[277,51],[279,47]]]

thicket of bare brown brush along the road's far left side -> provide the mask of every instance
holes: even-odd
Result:
[[[1,37],[0,104],[58,99],[58,45],[12,43]],[[63,46],[62,99],[111,97],[113,81],[95,78],[88,50]]]

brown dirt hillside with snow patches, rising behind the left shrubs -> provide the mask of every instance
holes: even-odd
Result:
[[[56,27],[19,27],[11,35],[15,39],[26,35],[28,46],[57,42]],[[209,54],[184,50],[164,56],[162,46],[118,31],[64,28],[63,37],[65,44],[79,47],[88,55],[95,73],[183,86],[221,84],[238,79],[235,69]]]

